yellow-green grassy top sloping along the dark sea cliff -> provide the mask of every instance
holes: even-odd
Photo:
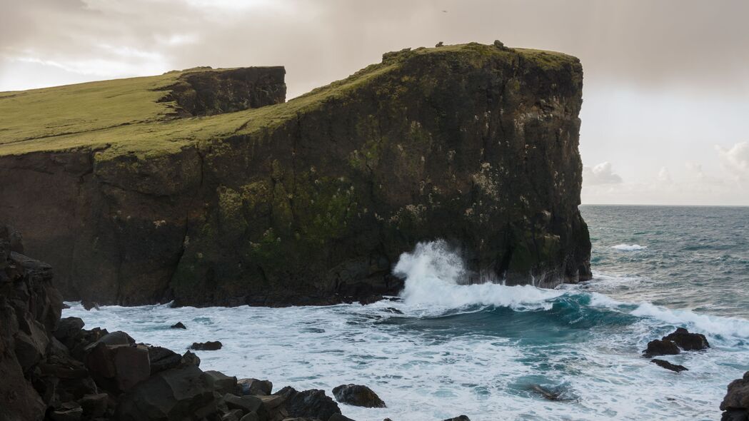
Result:
[[[159,102],[185,72],[160,76],[88,82],[55,88],[0,93],[0,156],[78,148],[106,149],[101,158],[169,154],[195,142],[219,140],[273,128],[300,112],[357,90],[417,55],[445,55],[480,63],[488,57],[518,55],[544,70],[577,63],[560,52],[505,49],[468,43],[387,53],[347,79],[287,103],[221,115],[175,118],[175,103]],[[204,69],[199,69],[204,70]],[[221,70],[211,70],[221,71]]]

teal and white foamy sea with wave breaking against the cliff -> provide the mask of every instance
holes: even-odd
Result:
[[[749,208],[582,206],[594,279],[555,290],[458,285],[460,258],[422,243],[395,270],[399,301],[368,306],[172,309],[78,303],[64,316],[139,342],[198,352],[202,369],[267,378],[274,390],[366,384],[388,408],[341,405],[357,421],[718,420],[749,370]],[[171,330],[182,321],[187,330]],[[640,357],[676,327],[712,348]],[[552,393],[557,400],[543,396]]]

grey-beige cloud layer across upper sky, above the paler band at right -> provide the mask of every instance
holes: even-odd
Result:
[[[90,74],[285,64],[292,94],[404,46],[495,38],[579,56],[586,77],[749,94],[745,0],[4,1],[0,55]],[[446,10],[446,13],[443,12]],[[191,43],[169,40],[189,39]],[[124,47],[130,54],[124,51]],[[151,60],[151,61],[148,61]],[[102,65],[97,68],[97,63]],[[67,67],[65,67],[67,66]],[[0,82],[10,77],[5,69]],[[121,75],[115,75],[121,76]]]

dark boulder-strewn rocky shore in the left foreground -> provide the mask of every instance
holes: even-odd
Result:
[[[200,369],[192,351],[178,354],[61,318],[52,268],[22,252],[20,235],[0,226],[1,421],[351,421],[324,390],[274,393],[270,381]],[[348,405],[385,407],[366,386],[332,393]]]

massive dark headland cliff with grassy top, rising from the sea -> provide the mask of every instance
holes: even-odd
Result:
[[[435,238],[475,278],[589,279],[577,58],[403,50],[275,105],[277,77],[234,90],[223,71],[0,94],[0,220],[53,264],[65,297],[366,300],[397,292],[398,255]],[[121,94],[96,93],[107,86]],[[89,112],[24,114],[47,101]]]

